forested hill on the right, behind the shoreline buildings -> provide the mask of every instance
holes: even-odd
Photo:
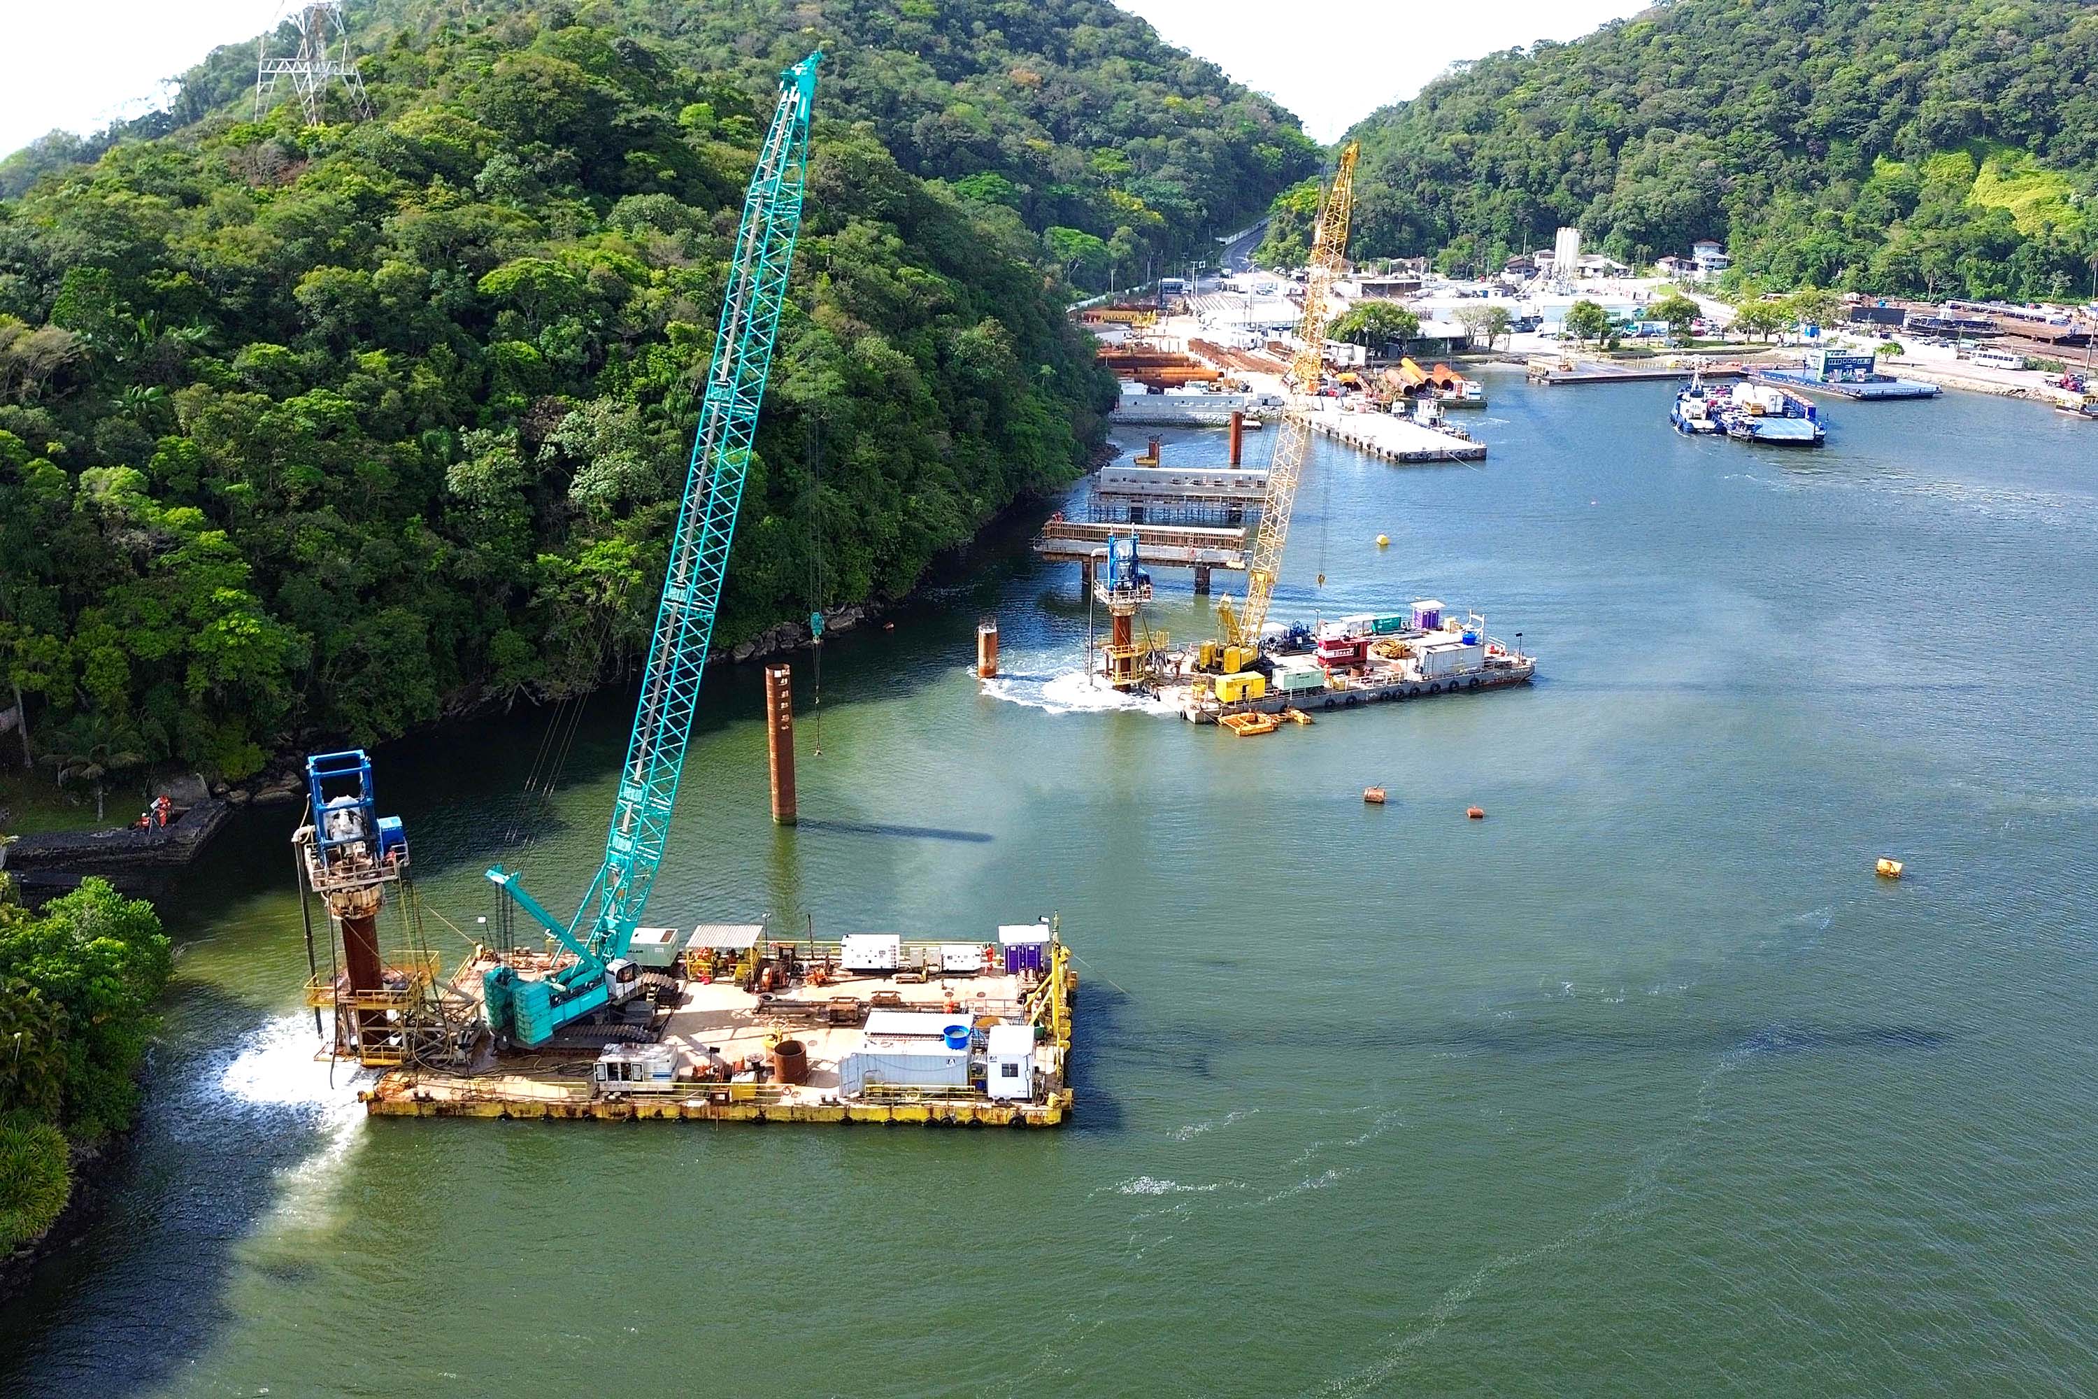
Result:
[[[2092,0],[1674,0],[1353,132],[1355,252],[1498,266],[1580,224],[1771,285],[2069,296],[2098,254]]]

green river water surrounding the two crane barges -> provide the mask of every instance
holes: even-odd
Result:
[[[0,1393],[2098,1391],[2098,428],[1836,403],[1785,455],[1678,438],[1662,384],[1490,392],[1477,468],[1320,443],[1276,615],[1471,604],[1527,690],[1259,740],[1089,709],[1076,571],[1020,533],[829,648],[820,757],[797,659],[783,833],[757,669],[707,680],[650,917],[1059,912],[1072,1126],[369,1122],[298,1011],[294,812],[250,812],[168,904],[145,1126],[0,1309]],[[629,705],[533,824],[556,904]],[[378,753],[462,927],[543,722]]]

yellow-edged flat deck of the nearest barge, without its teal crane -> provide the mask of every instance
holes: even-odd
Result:
[[[881,971],[845,969],[856,940],[753,944],[720,954],[732,967],[688,954],[699,973],[661,977],[642,1042],[522,1055],[483,1042],[464,1070],[399,1068],[361,1099],[401,1118],[1057,1126],[1074,1107],[1078,975],[1041,931],[1036,944],[894,938]],[[476,984],[483,963],[453,984]],[[774,977],[778,990],[753,990]]]

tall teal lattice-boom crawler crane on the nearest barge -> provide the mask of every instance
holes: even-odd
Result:
[[[707,369],[699,432],[692,438],[684,505],[663,575],[655,640],[648,644],[648,671],[634,711],[634,736],[619,770],[604,864],[569,921],[550,914],[512,870],[499,864],[489,870],[489,879],[524,917],[575,954],[575,961],[545,977],[524,977],[508,965],[485,975],[489,1028],[512,1045],[545,1045],[562,1026],[640,990],[640,971],[627,950],[663,864],[684,749],[692,736],[692,711],[699,707],[699,680],[713,640],[722,579],[728,575],[728,545],[743,503],[751,436],[787,300],[793,243],[801,229],[808,120],[820,61],[822,52],[812,52],[780,73],[778,107],[743,199],[736,256]]]

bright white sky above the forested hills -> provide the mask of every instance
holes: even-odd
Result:
[[[692,0],[665,0],[692,2]],[[699,0],[705,2],[705,0]],[[218,44],[252,40],[279,0],[0,0],[0,153],[52,128],[101,130],[138,115],[162,80]],[[1458,59],[1532,40],[1569,40],[1643,0],[1370,0],[1345,23],[1288,29],[1273,0],[1122,0],[1173,44],[1221,65],[1332,141],[1357,117],[1412,96]]]

